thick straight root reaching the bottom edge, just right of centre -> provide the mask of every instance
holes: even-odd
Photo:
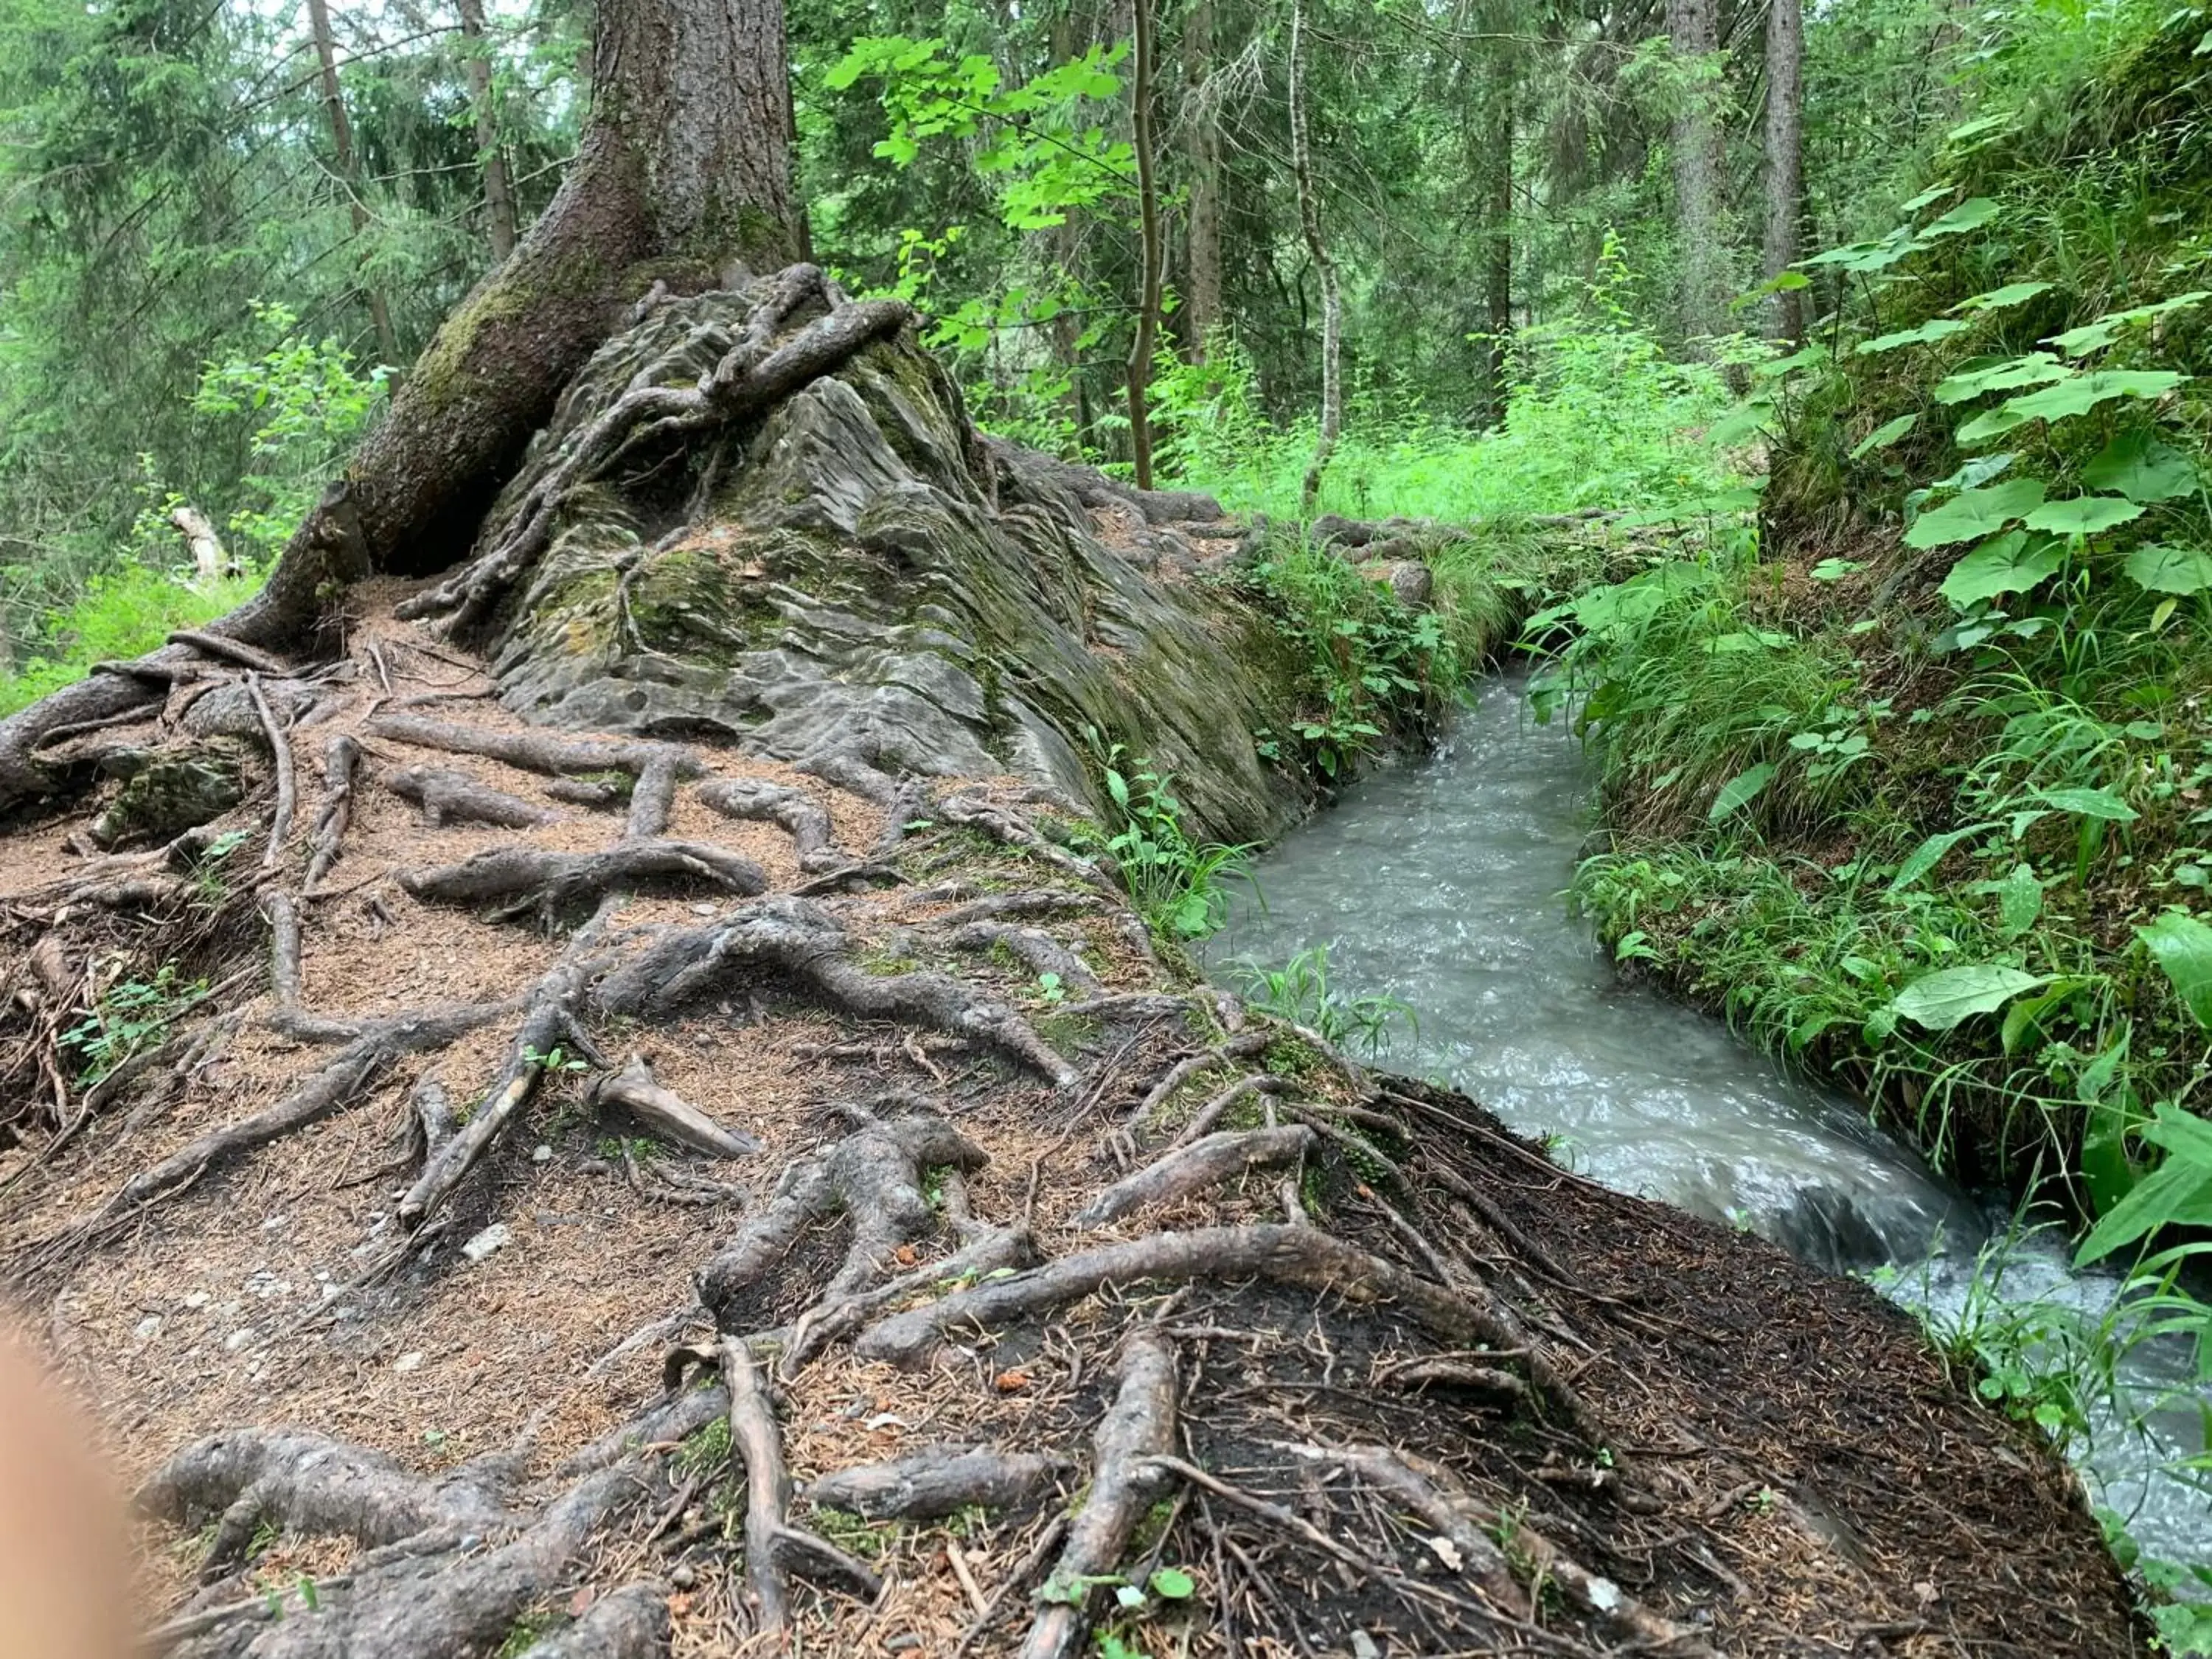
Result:
[[[1022,1659],[1068,1659],[1084,1637],[1093,1584],[1110,1577],[1137,1520],[1166,1486],[1155,1462],[1175,1444],[1175,1343],[1137,1327],[1121,1345],[1121,1387],[1091,1438],[1091,1493],[1029,1626]]]

